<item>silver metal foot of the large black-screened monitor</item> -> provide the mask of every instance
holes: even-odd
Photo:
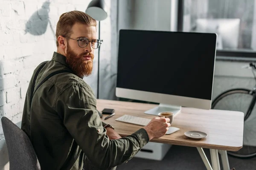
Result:
[[[177,114],[180,112],[180,110],[181,110],[181,106],[167,105],[167,104],[160,103],[159,106],[152,108],[148,111],[145,111],[144,113],[158,116],[158,113],[160,113],[160,112],[168,111],[168,112]]]

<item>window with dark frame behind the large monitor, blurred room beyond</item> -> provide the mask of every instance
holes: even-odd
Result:
[[[217,33],[217,56],[256,57],[256,0],[179,0],[178,31]]]

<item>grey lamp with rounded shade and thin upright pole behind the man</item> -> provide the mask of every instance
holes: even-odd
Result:
[[[100,40],[100,21],[105,20],[108,17],[108,14],[106,12],[106,5],[104,0],[92,0],[89,5],[87,6],[87,9],[85,10],[85,13],[90,15],[95,20],[99,21],[99,40]],[[100,46],[99,46],[100,48]],[[100,50],[99,50],[100,51]],[[97,99],[99,99],[99,53],[98,53],[98,79],[97,79]],[[101,113],[98,111],[99,115],[102,117]]]

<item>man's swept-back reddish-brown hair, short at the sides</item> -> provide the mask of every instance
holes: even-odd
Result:
[[[56,45],[58,47],[58,36],[67,36],[70,37],[72,32],[72,27],[75,23],[85,24],[87,26],[97,26],[97,22],[95,19],[90,17],[90,15],[86,14],[82,11],[70,11],[61,14],[57,27],[56,27]]]

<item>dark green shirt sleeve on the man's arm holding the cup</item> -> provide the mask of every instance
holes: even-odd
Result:
[[[62,114],[64,126],[95,166],[108,169],[131,159],[146,143],[145,129],[131,136],[109,140],[96,110],[96,98],[90,87],[76,84],[64,90],[55,110]]]

